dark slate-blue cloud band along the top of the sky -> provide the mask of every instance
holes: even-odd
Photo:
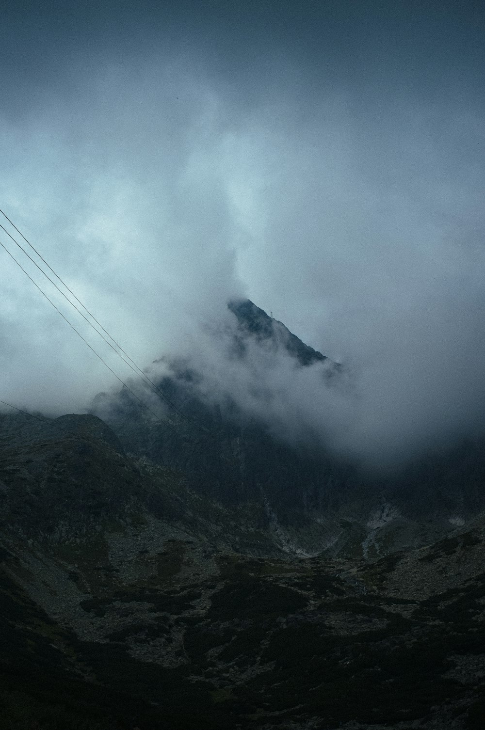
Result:
[[[290,68],[303,93],[316,96],[337,85],[362,99],[429,98],[481,84],[483,7],[473,1],[7,1],[2,8],[3,81],[16,88],[18,104],[29,101],[19,91],[36,96],[42,84],[66,91],[73,61],[93,70],[103,58],[153,53],[202,64],[234,103],[271,95]]]

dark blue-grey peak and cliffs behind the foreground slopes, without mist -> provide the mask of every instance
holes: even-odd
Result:
[[[243,364],[250,347],[283,349],[297,368],[321,367],[321,388],[338,386],[340,366],[253,302],[232,301],[229,310],[232,358]],[[201,380],[190,362],[172,361],[158,383],[189,420],[167,410],[160,423],[124,389],[117,396],[100,394],[93,412],[107,420],[126,451],[183,472],[196,493],[227,507],[257,505],[264,515],[259,526],[279,534],[290,551],[378,557],[426,544],[485,509],[483,444],[470,447],[475,456],[457,447],[383,477],[322,445],[285,442],[228,393],[208,401]]]

